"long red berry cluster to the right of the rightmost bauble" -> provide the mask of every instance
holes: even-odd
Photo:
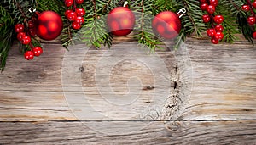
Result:
[[[212,28],[207,29],[207,35],[211,37],[213,44],[218,44],[224,38],[224,27],[220,25],[224,21],[222,15],[214,15],[215,8],[218,6],[218,0],[200,0],[201,10],[207,14],[202,16],[204,23],[212,23]]]

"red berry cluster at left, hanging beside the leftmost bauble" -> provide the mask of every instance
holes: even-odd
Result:
[[[26,32],[26,30],[28,30]],[[34,31],[34,20],[28,20],[26,25],[17,24],[15,25],[15,31],[17,34],[17,39],[24,45],[29,45],[30,50],[24,53],[24,57],[27,60],[31,60],[34,56],[39,56],[43,53],[42,47],[33,47],[31,36],[35,36],[36,32]]]

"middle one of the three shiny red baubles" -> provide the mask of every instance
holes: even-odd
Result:
[[[108,31],[115,36],[126,36],[135,25],[135,15],[129,8],[113,8],[107,17]]]

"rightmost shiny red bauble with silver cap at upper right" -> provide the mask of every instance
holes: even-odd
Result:
[[[152,21],[152,28],[156,35],[166,39],[175,38],[181,30],[182,24],[177,14],[164,11],[157,14]]]

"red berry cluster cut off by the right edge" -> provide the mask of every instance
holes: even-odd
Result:
[[[251,16],[247,18],[247,23],[249,25],[256,24],[256,14],[253,12],[253,8],[256,9],[256,0],[253,3],[251,1],[247,1],[247,4],[241,6],[241,9],[246,12],[251,12]],[[253,39],[256,39],[256,31],[253,32]]]

